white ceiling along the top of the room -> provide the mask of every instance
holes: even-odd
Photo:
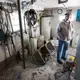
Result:
[[[17,2],[17,0],[2,0],[2,1]],[[21,0],[21,1],[30,1],[30,0]],[[34,5],[37,5],[37,6],[43,7],[43,8],[64,7],[63,4],[58,4],[58,0],[36,0]],[[68,2],[65,3],[65,6],[80,7],[80,0],[68,0]]]

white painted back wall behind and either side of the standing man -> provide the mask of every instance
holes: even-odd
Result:
[[[80,22],[76,21],[76,14],[77,14],[77,9],[79,8],[74,8],[72,9],[72,24],[74,26],[74,30],[75,30],[75,33],[74,33],[74,37],[73,37],[73,42],[72,42],[72,47],[77,47],[77,44],[78,44],[78,39],[79,39],[79,36],[80,35]],[[56,28],[58,26],[58,24],[60,23],[60,17],[63,16],[64,17],[64,14],[66,13],[66,10],[63,9],[63,13],[62,14],[58,14],[57,13],[57,9],[53,10],[53,15],[54,15],[54,18],[52,18],[52,36],[53,37],[57,37],[57,34],[56,34]]]

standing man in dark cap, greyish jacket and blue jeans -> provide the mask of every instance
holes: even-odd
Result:
[[[69,20],[70,14],[65,14],[65,19],[59,24],[57,28],[58,38],[58,51],[57,51],[57,62],[62,64],[61,59],[66,60],[66,51],[68,50],[69,42],[73,35],[73,26]]]

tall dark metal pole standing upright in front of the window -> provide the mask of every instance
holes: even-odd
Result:
[[[18,14],[19,14],[19,24],[20,24],[20,34],[21,34],[21,45],[22,45],[22,53],[23,53],[23,68],[25,69],[24,43],[23,43],[23,30],[22,30],[22,19],[21,19],[21,6],[20,6],[20,0],[17,0],[17,4],[18,4]]]

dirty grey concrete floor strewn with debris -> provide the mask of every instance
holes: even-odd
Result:
[[[76,50],[70,48],[69,53],[75,55]],[[0,72],[0,80],[55,80],[54,73],[58,69],[62,69],[62,65],[56,62],[56,54],[54,51],[44,66],[36,66],[27,60],[26,69],[23,69],[22,62],[20,62],[14,67]]]

